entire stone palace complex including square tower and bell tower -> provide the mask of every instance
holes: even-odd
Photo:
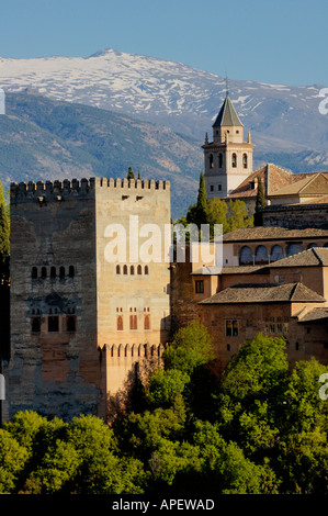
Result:
[[[213,257],[166,256],[169,182],[11,184],[8,418],[34,410],[111,420],[194,318],[220,369],[259,332],[286,338],[291,364],[328,363],[328,172],[255,171],[253,148],[227,94],[203,145],[207,198],[240,199],[251,212],[261,178],[268,206],[262,226],[223,236],[219,270]],[[147,243],[159,259],[147,260]]]

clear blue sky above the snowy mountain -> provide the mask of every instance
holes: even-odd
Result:
[[[87,57],[113,48],[230,79],[328,87],[327,0],[0,0],[0,7],[3,57]]]

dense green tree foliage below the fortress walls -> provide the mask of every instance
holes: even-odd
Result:
[[[20,412],[0,430],[0,493],[328,494],[328,368],[262,334],[217,373],[207,330],[180,328],[112,427]]]

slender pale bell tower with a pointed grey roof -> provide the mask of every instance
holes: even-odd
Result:
[[[207,199],[226,198],[252,172],[253,145],[244,142],[241,124],[228,93],[213,124],[213,142],[206,134],[204,177]]]

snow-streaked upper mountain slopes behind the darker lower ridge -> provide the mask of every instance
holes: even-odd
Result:
[[[323,86],[228,85],[256,152],[327,152],[328,114],[319,112]],[[0,57],[0,88],[34,88],[52,99],[128,114],[203,142],[226,94],[226,80],[181,63],[105,49],[86,58]]]

